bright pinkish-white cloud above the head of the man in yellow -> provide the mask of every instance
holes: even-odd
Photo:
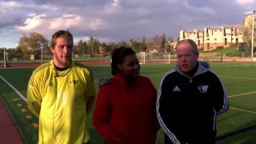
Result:
[[[62,14],[49,17],[47,14],[29,14],[18,30],[26,33],[38,32],[50,37],[56,30],[98,30],[102,26],[102,19],[88,18],[75,14]]]

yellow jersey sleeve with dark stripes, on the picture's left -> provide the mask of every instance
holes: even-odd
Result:
[[[27,86],[27,105],[30,111],[38,118],[41,110],[42,95],[38,85],[38,78],[32,74]]]

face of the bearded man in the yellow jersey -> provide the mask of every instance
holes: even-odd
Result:
[[[71,65],[74,43],[71,38],[57,38],[56,45],[50,48],[54,54],[54,65],[66,68]]]

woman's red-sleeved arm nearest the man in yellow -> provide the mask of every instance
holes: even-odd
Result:
[[[114,130],[114,127],[110,124],[111,104],[109,96],[110,92],[107,90],[107,87],[102,86],[94,108],[93,124],[104,139],[117,141],[118,138],[122,137],[122,134]]]

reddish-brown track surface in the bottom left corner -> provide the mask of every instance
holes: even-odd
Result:
[[[21,135],[18,133],[14,122],[10,118],[6,107],[0,98],[0,143],[3,144],[22,144]]]

